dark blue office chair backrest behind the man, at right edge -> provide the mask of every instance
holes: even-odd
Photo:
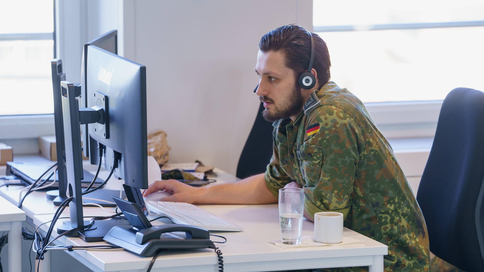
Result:
[[[456,88],[440,109],[420,181],[430,251],[466,272],[484,271],[484,92]]]

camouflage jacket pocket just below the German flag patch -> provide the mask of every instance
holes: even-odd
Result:
[[[302,178],[307,187],[316,186],[321,176],[323,147],[304,143],[297,154]]]

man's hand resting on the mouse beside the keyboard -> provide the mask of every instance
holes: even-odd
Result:
[[[177,180],[155,181],[143,192],[143,196],[166,190],[173,195],[161,199],[162,201],[197,203],[201,189],[203,188],[196,188]]]

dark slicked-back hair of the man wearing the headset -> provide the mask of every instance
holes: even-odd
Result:
[[[318,73],[319,84],[324,85],[330,80],[330,54],[326,43],[311,32],[314,40],[313,68]],[[288,25],[276,28],[266,33],[259,42],[262,52],[282,50],[286,56],[286,66],[294,71],[296,80],[307,71],[311,56],[311,38],[309,33],[300,26]],[[321,86],[317,86],[320,88]]]

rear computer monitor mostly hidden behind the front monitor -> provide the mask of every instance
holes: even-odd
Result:
[[[86,78],[87,69],[88,69],[87,62],[88,62],[89,45],[94,45],[106,51],[109,51],[111,53],[118,54],[118,30],[111,30],[109,32],[106,32],[101,36],[84,44],[84,47],[82,50],[82,60],[81,60],[81,93],[82,93],[81,107],[86,107],[87,105],[87,97],[85,93],[89,89],[87,78]],[[83,135],[83,145],[84,145],[84,149],[83,149],[84,156],[91,157],[89,156],[90,141],[89,141],[89,129],[87,125],[82,126],[82,135]]]

